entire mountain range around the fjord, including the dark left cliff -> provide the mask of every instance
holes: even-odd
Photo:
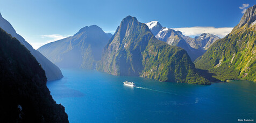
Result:
[[[211,84],[198,71],[221,81],[256,82],[256,5],[223,39],[209,33],[191,38],[127,16],[113,35],[91,25],[35,50],[1,13],[0,27],[0,122],[69,122],[46,86],[63,78],[59,67],[163,82]]]

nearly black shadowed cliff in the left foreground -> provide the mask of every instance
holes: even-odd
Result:
[[[0,122],[68,122],[46,87],[38,61],[0,28]]]

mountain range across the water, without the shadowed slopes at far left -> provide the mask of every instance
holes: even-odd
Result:
[[[251,80],[250,76],[254,75],[251,73],[254,72],[254,67],[252,66],[254,63],[251,63],[254,62],[254,51],[247,49],[247,56],[241,57],[243,59],[239,57],[239,64],[234,63],[236,57],[238,58],[236,55],[243,56],[249,44],[239,44],[239,48],[244,48],[243,52],[241,52],[242,49],[238,50],[237,45],[242,39],[238,40],[236,44],[232,44],[231,42],[233,41],[230,40],[232,39],[231,37],[244,38],[239,33],[250,33],[251,31],[252,35],[254,34],[254,26],[250,26],[255,24],[252,21],[254,14],[247,13],[246,15],[247,17],[243,17],[244,19],[242,18],[240,21],[240,23],[245,24],[239,23],[240,26],[236,26],[223,39],[209,33],[203,33],[200,36],[191,38],[184,36],[178,30],[162,27],[158,21],[143,24],[135,17],[128,16],[122,20],[111,38],[101,28],[93,25],[80,29],[72,37],[46,44],[38,50],[61,67],[67,67],[65,65],[68,64],[70,65],[69,67],[96,68],[98,71],[113,75],[141,76],[159,81],[208,84],[207,80],[202,79],[202,76],[197,73],[192,63],[194,59],[199,57],[195,61],[196,68],[214,73],[219,80],[237,78],[250,78],[247,80]],[[249,25],[247,27],[244,26],[246,25],[246,19],[248,21],[247,25]],[[91,28],[97,31],[91,33],[93,32]],[[238,30],[239,33],[237,33]],[[242,32],[241,30],[248,31]],[[94,39],[96,37],[98,39]],[[246,43],[248,42],[247,40],[253,42],[253,36],[246,39]],[[224,43],[226,44],[224,45]],[[254,44],[251,43],[250,45],[252,45],[251,48],[253,50]],[[231,51],[232,55],[230,54]],[[248,55],[250,52],[252,54]],[[245,59],[247,60],[245,61]],[[234,65],[225,65],[228,63],[226,61]],[[190,74],[196,76],[193,78],[194,80],[189,79],[191,77]],[[198,82],[198,78],[203,82]]]

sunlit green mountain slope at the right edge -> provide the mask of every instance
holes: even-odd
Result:
[[[239,24],[212,44],[196,67],[215,74],[219,80],[256,81],[256,5],[249,7]]]

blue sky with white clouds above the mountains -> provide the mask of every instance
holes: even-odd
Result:
[[[73,36],[80,28],[101,27],[115,33],[126,16],[140,22],[157,20],[186,36],[212,33],[224,37],[255,0],[67,1],[0,0],[0,12],[34,49]]]

